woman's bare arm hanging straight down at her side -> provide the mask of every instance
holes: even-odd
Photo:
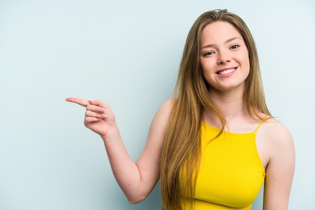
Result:
[[[287,210],[295,167],[291,133],[275,123],[269,133],[269,162],[264,186],[264,210]]]

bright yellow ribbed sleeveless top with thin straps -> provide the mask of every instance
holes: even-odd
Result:
[[[193,197],[196,210],[251,209],[266,175],[256,147],[258,128],[245,134],[223,131],[210,141],[220,129],[201,123],[202,153]],[[181,195],[183,209],[188,210],[188,195]]]

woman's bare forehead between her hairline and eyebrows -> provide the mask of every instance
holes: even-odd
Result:
[[[202,44],[220,44],[232,37],[238,37],[244,41],[241,33],[232,24],[227,22],[208,24],[201,32]]]

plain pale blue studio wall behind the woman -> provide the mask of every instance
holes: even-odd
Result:
[[[160,183],[128,203],[85,108],[64,99],[109,103],[136,161],[172,96],[190,27],[214,9],[250,28],[268,107],[295,141],[289,209],[315,209],[312,0],[0,1],[0,209],[161,209]]]

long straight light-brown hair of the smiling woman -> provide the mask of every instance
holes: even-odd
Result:
[[[262,86],[258,54],[254,39],[244,21],[226,10],[202,14],[191,27],[180,64],[175,88],[174,106],[165,134],[161,156],[161,191],[164,210],[182,209],[180,191],[194,195],[200,162],[200,123],[204,109],[208,109],[226,125],[225,117],[208,94],[208,84],[200,64],[201,33],[208,24],[227,22],[243,36],[249,52],[250,73],[245,81],[244,101],[251,117],[262,119],[269,113]],[[181,174],[184,179],[180,179]],[[186,180],[186,181],[184,181]],[[193,202],[191,200],[191,208]]]

